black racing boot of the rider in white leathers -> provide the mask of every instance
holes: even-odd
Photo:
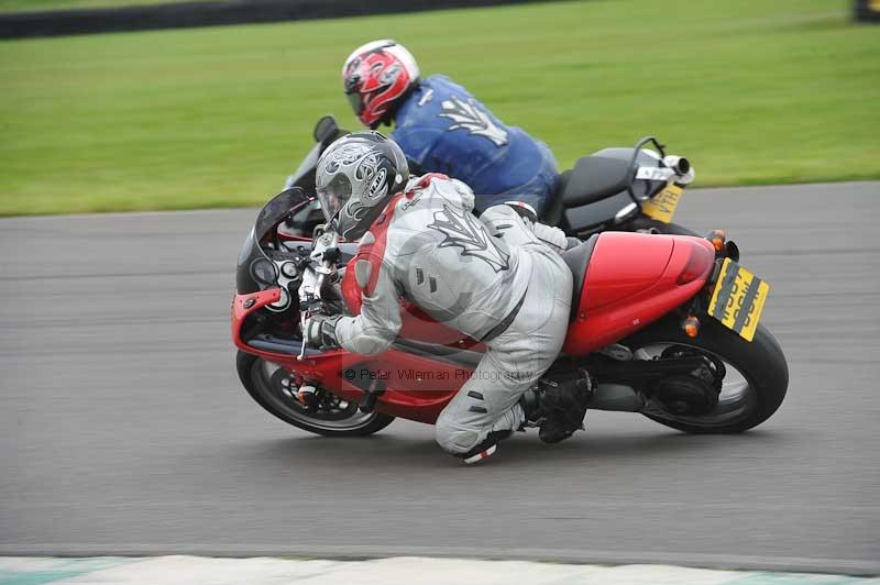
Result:
[[[593,395],[593,379],[582,368],[541,378],[522,395],[526,420],[540,427],[541,441],[558,443],[583,429],[586,406]]]

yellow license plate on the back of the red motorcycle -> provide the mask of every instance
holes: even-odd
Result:
[[[725,258],[712,292],[708,313],[746,341],[751,341],[769,292],[770,285]]]

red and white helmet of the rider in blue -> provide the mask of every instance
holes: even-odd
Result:
[[[345,96],[358,119],[371,129],[385,121],[418,79],[413,54],[387,38],[358,47],[342,66]]]

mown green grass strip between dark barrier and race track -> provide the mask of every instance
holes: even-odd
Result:
[[[845,0],[594,0],[0,43],[0,214],[256,205],[394,35],[560,164],[648,133],[698,185],[880,178],[880,27]]]

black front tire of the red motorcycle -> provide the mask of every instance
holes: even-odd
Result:
[[[242,351],[235,356],[239,379],[251,398],[288,424],[324,437],[365,437],[381,431],[394,421],[394,417],[381,412],[364,415],[353,402],[332,419],[310,415],[296,400],[283,394],[277,376],[285,376],[284,371],[276,368],[275,374],[268,374],[266,366],[263,358]],[[346,418],[348,413],[351,415]]]

